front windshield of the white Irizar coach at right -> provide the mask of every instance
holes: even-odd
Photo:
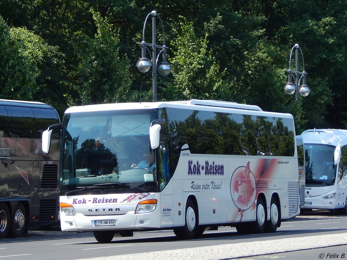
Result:
[[[334,185],[334,151],[334,146],[305,144],[306,186]]]

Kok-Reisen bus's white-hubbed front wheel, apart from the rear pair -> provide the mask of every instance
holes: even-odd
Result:
[[[192,239],[198,224],[197,211],[191,199],[187,200],[184,227],[174,228],[175,235],[180,239]]]

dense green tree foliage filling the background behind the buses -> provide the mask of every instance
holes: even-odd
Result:
[[[297,133],[347,127],[342,0],[3,0],[1,98],[42,101],[59,112],[82,103],[150,101],[152,73],[135,64],[153,9],[172,64],[169,76],[158,74],[158,99],[256,104],[292,113]],[[159,22],[156,31],[161,44]],[[150,19],[145,41],[151,42]],[[283,93],[295,43],[312,90],[297,101]],[[300,70],[302,64],[300,56]]]

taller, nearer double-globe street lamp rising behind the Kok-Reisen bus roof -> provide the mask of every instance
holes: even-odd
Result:
[[[146,43],[145,42],[145,27],[146,27],[146,22],[149,16],[152,15],[152,43]],[[158,17],[161,23],[161,27],[163,29],[163,45],[158,45],[156,44],[156,37],[155,37],[155,18]],[[165,32],[164,32],[164,26],[163,22],[161,21],[159,15],[156,13],[156,11],[150,12],[143,24],[143,32],[142,32],[142,42],[140,43],[141,48],[142,48],[142,55],[141,59],[139,59],[136,63],[136,67],[139,71],[146,73],[147,71],[150,70],[152,67],[152,79],[153,79],[153,84],[152,84],[152,89],[153,89],[153,102],[156,102],[156,70],[158,69],[158,72],[162,76],[167,76],[171,72],[171,65],[169,62],[166,61],[166,50],[168,47],[165,45]],[[147,46],[152,47],[152,55],[150,50],[147,48]],[[160,52],[158,53],[158,56],[156,55],[156,49],[161,49]],[[151,55],[151,61],[146,58],[146,50],[149,52]],[[162,62],[158,64],[158,60],[160,57],[160,54],[162,54]]]

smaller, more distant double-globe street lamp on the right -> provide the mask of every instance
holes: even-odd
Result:
[[[293,53],[293,50],[295,49],[295,71],[291,69],[290,63],[291,63],[291,54]],[[301,52],[301,57],[303,60],[303,71],[299,71],[299,57],[298,57],[298,50]],[[304,56],[303,53],[299,47],[299,44],[295,44],[293,48],[291,48],[290,57],[289,57],[289,69],[288,72],[288,83],[284,86],[283,90],[288,95],[294,94],[295,92],[295,100],[298,100],[299,94],[303,97],[308,96],[310,94],[311,89],[306,85],[306,71],[305,71],[305,63],[304,63]],[[299,78],[299,74],[301,77]],[[291,79],[294,78],[295,85],[291,82]],[[300,81],[302,80],[303,85],[300,86]]]

